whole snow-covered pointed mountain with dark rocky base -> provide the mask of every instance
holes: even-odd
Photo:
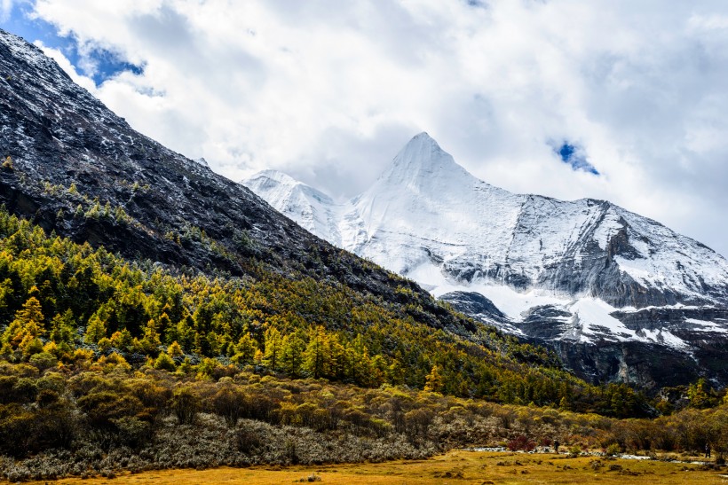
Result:
[[[610,202],[504,191],[425,133],[342,204],[270,170],[243,184],[456,309],[550,344],[582,377],[728,381],[728,262]]]

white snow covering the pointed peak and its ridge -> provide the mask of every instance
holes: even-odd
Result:
[[[602,286],[591,286],[589,279],[607,278],[599,273],[607,263],[616,263],[609,278],[621,278],[617,285],[634,281],[678,295],[677,305],[661,308],[728,301],[728,262],[708,247],[605,200],[564,201],[487,184],[426,133],[410,140],[366,192],[344,204],[278,172],[266,177],[266,184],[245,184],[332,244],[414,279],[436,297],[456,290],[481,293],[514,322],[534,306],[565,309],[574,328],[564,339],[609,336],[687,345],[667,331],[632,331],[611,317],[617,308],[605,303],[598,293]],[[317,217],[325,223],[312,223]],[[564,278],[585,283],[566,291],[568,286],[558,286]],[[639,311],[634,305],[617,306]],[[637,304],[652,306],[649,300]]]

